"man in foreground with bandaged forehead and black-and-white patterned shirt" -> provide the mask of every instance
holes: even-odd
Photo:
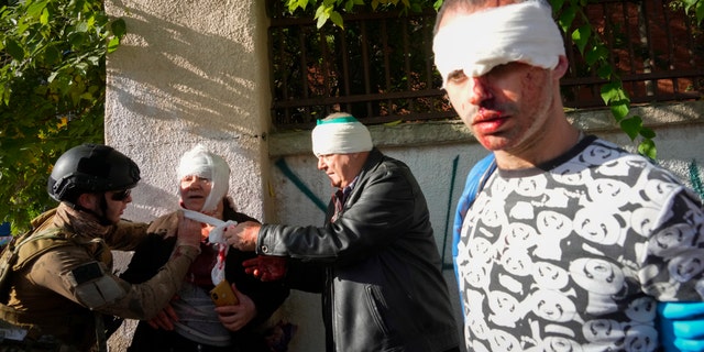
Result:
[[[565,117],[547,1],[446,0],[433,52],[490,152],[454,222],[469,351],[704,349],[704,213],[644,156]]]

